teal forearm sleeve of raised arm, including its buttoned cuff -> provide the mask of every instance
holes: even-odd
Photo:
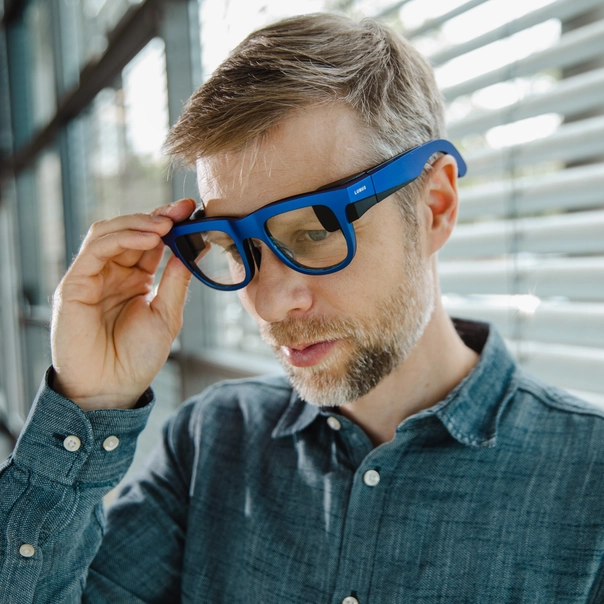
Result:
[[[82,601],[105,530],[103,496],[132,463],[154,403],[148,389],[135,409],[85,413],[51,389],[52,375],[0,465],[0,602]]]

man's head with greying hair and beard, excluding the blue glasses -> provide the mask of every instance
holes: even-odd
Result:
[[[249,36],[193,95],[167,144],[196,163],[208,216],[243,216],[443,130],[425,59],[373,21],[321,14]],[[367,394],[421,337],[437,303],[433,256],[450,230],[442,216],[454,220],[443,200],[455,196],[455,175],[444,156],[356,221],[357,255],[338,273],[300,274],[260,246],[240,296],[310,402]]]

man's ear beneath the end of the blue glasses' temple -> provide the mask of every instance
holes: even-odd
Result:
[[[457,221],[457,162],[450,155],[439,157],[430,171],[423,196],[428,253],[436,253],[449,239]]]

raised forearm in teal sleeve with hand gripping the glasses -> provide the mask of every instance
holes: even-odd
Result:
[[[149,385],[182,323],[190,274],[175,258],[153,295],[160,237],[193,209],[182,200],[95,224],[57,289],[53,367],[0,467],[0,602],[83,597],[104,535],[102,498],[132,461]],[[98,589],[88,601],[144,601]]]

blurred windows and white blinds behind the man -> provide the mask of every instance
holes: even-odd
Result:
[[[604,405],[604,0],[0,1],[0,426],[10,450],[50,363],[50,296],[90,224],[198,199],[161,145],[250,31],[337,11],[426,54],[467,160],[440,254],[452,316]],[[280,371],[236,294],[194,282],[137,461],[186,397]],[[0,451],[1,452],[1,451]],[[2,456],[4,457],[4,456]]]

